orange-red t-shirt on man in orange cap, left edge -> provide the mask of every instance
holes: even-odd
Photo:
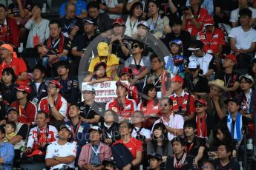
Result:
[[[21,58],[13,58],[10,64],[6,64],[4,61],[2,62],[2,64],[0,64],[0,78],[3,69],[8,67],[11,67],[14,70],[16,76],[21,75],[22,72],[27,72],[27,65],[25,64],[24,60]],[[27,85],[28,83],[28,79],[25,81],[17,80],[17,84],[19,85]]]

